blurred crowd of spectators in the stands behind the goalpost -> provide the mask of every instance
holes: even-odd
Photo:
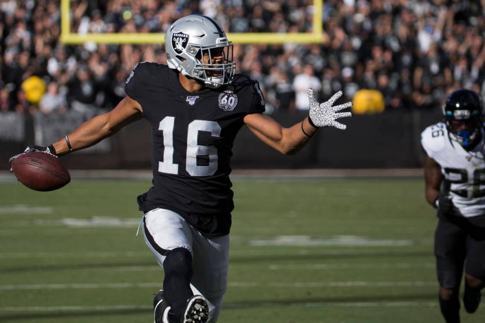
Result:
[[[312,2],[72,0],[70,28],[165,32],[202,13],[229,32],[311,32]],[[322,44],[236,44],[235,60],[260,82],[268,113],[307,110],[308,87],[320,99],[342,90],[354,104],[369,93],[381,102],[356,112],[437,109],[453,89],[485,90],[484,9],[485,0],[326,0]],[[59,0],[0,0],[0,35],[0,111],[112,108],[136,63],[166,61],[162,45],[62,45]]]

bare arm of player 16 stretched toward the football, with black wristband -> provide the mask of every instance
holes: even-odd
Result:
[[[140,103],[126,96],[113,110],[86,121],[68,134],[67,138],[73,150],[84,149],[114,135],[124,126],[142,117],[143,110]],[[52,145],[58,156],[70,152],[65,138],[59,139]]]

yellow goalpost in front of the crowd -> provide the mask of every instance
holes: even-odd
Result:
[[[323,0],[313,0],[313,28],[311,33],[228,33],[235,44],[314,44],[324,41],[322,29]],[[84,44],[86,42],[105,44],[163,44],[162,33],[71,33],[70,0],[61,0],[61,37],[63,44]]]

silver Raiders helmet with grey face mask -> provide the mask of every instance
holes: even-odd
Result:
[[[226,33],[211,18],[189,15],[180,18],[165,34],[168,67],[217,89],[231,82],[236,70],[233,45]],[[204,55],[208,60],[204,63]],[[212,64],[212,57],[222,61]]]

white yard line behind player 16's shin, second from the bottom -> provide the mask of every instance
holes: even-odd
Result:
[[[310,282],[247,282],[232,281],[229,287],[419,287],[437,286],[431,281],[310,281]],[[119,288],[159,288],[161,282],[116,282],[116,283],[80,283],[80,284],[9,284],[0,285],[0,290],[47,290],[47,289],[119,289]]]

